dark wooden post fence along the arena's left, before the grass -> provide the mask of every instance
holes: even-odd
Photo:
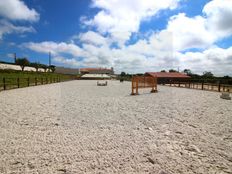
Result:
[[[57,83],[61,81],[67,81],[67,79],[61,79],[60,77],[46,77],[46,78],[2,78],[0,79],[0,91],[23,88],[29,86],[44,85],[50,83]]]

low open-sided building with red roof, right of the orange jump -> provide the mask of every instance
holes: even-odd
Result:
[[[145,75],[157,77],[157,81],[159,84],[177,81],[188,81],[191,78],[190,76],[179,72],[146,72]]]

